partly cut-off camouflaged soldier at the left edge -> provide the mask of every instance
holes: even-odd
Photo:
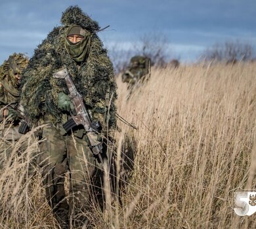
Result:
[[[28,57],[24,54],[12,54],[8,60],[0,66],[0,121],[2,122],[0,137],[3,145],[0,146],[1,159],[3,152],[9,156],[12,145],[21,134],[18,127],[22,116],[22,107],[18,105],[20,100],[20,80],[21,73],[28,65]]]

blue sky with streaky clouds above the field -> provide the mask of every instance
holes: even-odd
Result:
[[[110,25],[98,34],[110,49],[127,49],[149,33],[167,37],[170,57],[182,62],[196,61],[215,43],[256,47],[255,0],[1,0],[0,63],[13,52],[31,57],[70,5]]]

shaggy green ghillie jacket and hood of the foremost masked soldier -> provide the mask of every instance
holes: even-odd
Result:
[[[98,23],[91,20],[77,6],[69,7],[63,13],[61,22],[63,26],[54,27],[47,39],[35,49],[24,72],[21,102],[27,115],[32,120],[49,115],[54,124],[61,122],[62,112],[57,106],[58,93],[64,91],[68,94],[68,89],[64,80],[53,78],[53,73],[66,66],[94,120],[102,122],[104,119],[105,97],[107,92],[110,92],[112,103],[108,126],[114,127],[116,125],[114,68],[106,49],[103,48],[102,42],[96,35],[99,29]],[[64,48],[68,26],[74,24],[92,33],[89,56],[85,62],[81,63],[80,69]]]

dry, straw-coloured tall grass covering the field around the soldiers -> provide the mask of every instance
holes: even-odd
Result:
[[[118,123],[117,158],[129,136],[135,162],[121,202],[104,187],[95,228],[256,228],[255,215],[238,217],[230,207],[234,190],[256,188],[255,76],[253,63],[153,69],[128,101],[117,79],[118,113],[138,128]],[[22,181],[28,154],[1,169],[0,228],[58,228],[41,178]]]

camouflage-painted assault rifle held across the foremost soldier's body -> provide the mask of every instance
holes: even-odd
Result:
[[[63,124],[64,130],[69,132],[75,126],[82,125],[85,128],[86,135],[89,139],[89,148],[93,152],[93,155],[98,158],[98,160],[102,163],[102,143],[98,141],[97,137],[97,129],[100,128],[100,122],[91,122],[91,118],[87,113],[85,108],[85,104],[83,103],[83,97],[77,89],[75,88],[75,84],[72,81],[70,75],[68,74],[68,69],[64,68],[61,71],[53,74],[53,77],[56,79],[64,79],[66,80],[66,84],[68,86],[68,96],[70,97],[75,111],[70,112],[72,118],[68,120],[68,122]]]

